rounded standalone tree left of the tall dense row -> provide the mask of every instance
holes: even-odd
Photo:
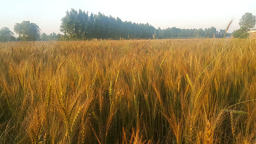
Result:
[[[23,21],[14,25],[14,32],[19,35],[19,39],[24,41],[35,41],[40,37],[41,29],[35,23]]]

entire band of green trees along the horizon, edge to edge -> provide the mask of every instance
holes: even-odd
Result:
[[[255,16],[252,13],[245,13],[240,19],[240,29],[235,30],[233,34],[226,33],[225,36],[239,37],[244,32],[255,26]],[[62,34],[52,33],[41,34],[39,26],[29,21],[16,23],[14,32],[19,36],[15,38],[12,31],[3,27],[0,29],[0,42],[5,41],[35,41],[35,40],[90,40],[90,39],[163,39],[163,38],[222,38],[225,34],[224,29],[216,30],[215,27],[205,29],[181,29],[168,27],[156,29],[154,26],[146,24],[137,24],[128,21],[122,21],[119,17],[114,18],[111,15],[106,16],[101,12],[98,14],[88,13],[82,10],[71,9],[61,19],[60,31]],[[243,35],[246,38],[247,35]]]

